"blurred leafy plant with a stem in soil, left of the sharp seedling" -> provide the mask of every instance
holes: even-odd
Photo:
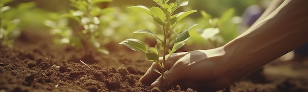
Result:
[[[53,28],[52,33],[57,35],[56,43],[70,44],[77,48],[84,48],[86,54],[90,53],[89,48],[109,54],[108,49],[101,46],[103,29],[100,28],[104,22],[100,19],[104,14],[115,11],[107,8],[112,0],[70,0],[71,6],[76,10],[60,15],[57,21],[46,21],[45,24]],[[68,26],[68,18],[75,20],[79,25],[76,28]],[[105,22],[106,23],[106,22]],[[106,43],[104,43],[106,44]]]

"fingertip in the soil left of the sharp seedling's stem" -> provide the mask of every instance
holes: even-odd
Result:
[[[152,83],[152,82],[154,82],[160,76],[160,74],[155,72],[154,69],[161,70],[159,64],[153,62],[151,67],[139,79],[139,81],[142,82],[142,83]]]

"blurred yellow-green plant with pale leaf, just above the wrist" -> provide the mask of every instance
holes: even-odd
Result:
[[[203,26],[197,29],[198,33],[214,47],[224,45],[238,35],[237,25],[240,22],[238,17],[234,16],[234,12],[235,10],[230,8],[223,12],[220,18],[212,18],[210,14],[201,11]]]

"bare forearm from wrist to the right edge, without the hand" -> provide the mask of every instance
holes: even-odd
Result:
[[[272,14],[223,46],[232,79],[308,43],[308,0],[285,0]],[[300,19],[300,20],[298,20]]]

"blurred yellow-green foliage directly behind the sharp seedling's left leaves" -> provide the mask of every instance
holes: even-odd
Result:
[[[146,41],[148,39],[155,39],[155,37],[146,37],[143,35],[127,35],[138,29],[149,29],[156,30],[158,27],[152,23],[152,16],[148,14],[139,12],[131,9],[121,9],[118,6],[114,7],[117,9],[117,12],[110,13],[108,20],[112,20],[109,24],[105,24],[104,35],[107,37],[104,40],[106,42],[116,42],[119,43],[124,39],[135,38],[140,39],[141,41]],[[108,21],[106,20],[106,21]]]

